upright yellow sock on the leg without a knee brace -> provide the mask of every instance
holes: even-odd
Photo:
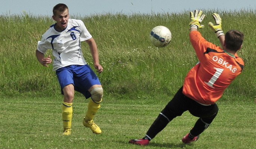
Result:
[[[72,114],[72,103],[62,102],[62,120],[64,129],[71,128]]]

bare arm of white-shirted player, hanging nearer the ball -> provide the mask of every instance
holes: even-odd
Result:
[[[92,54],[94,68],[97,69],[97,72],[102,73],[103,68],[99,64],[99,53],[98,53],[98,48],[97,48],[95,40],[93,38],[90,38],[90,39],[86,40],[86,42],[87,42],[87,44],[89,44],[89,47],[90,47],[90,52]]]

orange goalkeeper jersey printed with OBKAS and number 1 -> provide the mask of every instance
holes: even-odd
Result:
[[[187,74],[183,94],[205,105],[214,104],[243,67],[243,60],[206,41],[198,31],[189,34],[198,60]]]

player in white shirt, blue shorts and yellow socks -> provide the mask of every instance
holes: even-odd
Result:
[[[38,41],[36,57],[43,65],[52,63],[50,56],[44,57],[47,49],[52,49],[54,56],[53,71],[56,71],[61,92],[64,95],[62,102],[63,134],[71,134],[71,120],[73,114],[72,103],[74,91],[82,93],[85,98],[90,98],[83,125],[89,127],[93,133],[100,134],[101,129],[93,122],[93,117],[100,108],[103,89],[101,83],[84,60],[81,51],[81,42],[89,44],[94,68],[97,72],[103,71],[99,64],[98,48],[92,35],[81,20],[70,19],[68,7],[57,4],[53,7],[53,20],[55,24],[43,34]]]

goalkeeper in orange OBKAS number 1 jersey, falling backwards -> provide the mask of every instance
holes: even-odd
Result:
[[[230,30],[224,35],[221,27],[221,18],[213,13],[215,24],[209,26],[216,33],[222,48],[206,41],[197,31],[203,28],[200,25],[205,15],[202,11],[190,12],[190,41],[197,54],[198,62],[188,72],[183,86],[178,90],[173,99],[160,112],[156,120],[142,139],[132,139],[129,143],[148,145],[167,124],[183,112],[189,111],[199,117],[194,127],[182,138],[183,143],[197,141],[199,135],[209,127],[218,113],[216,101],[222,96],[223,91],[232,80],[239,75],[244,67],[243,60],[237,56],[241,49],[244,35],[240,31]]]

